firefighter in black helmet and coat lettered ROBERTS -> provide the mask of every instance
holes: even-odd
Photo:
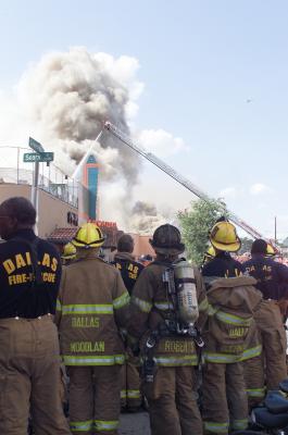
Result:
[[[141,341],[143,391],[149,402],[151,433],[200,435],[202,421],[197,405],[195,372],[199,362],[197,346],[189,335],[190,330],[180,326],[173,291],[175,281],[166,278],[176,274],[176,268],[184,272],[188,269],[189,277],[181,281],[184,289],[186,285],[189,287],[189,300],[196,307],[198,300],[199,310],[204,312],[208,302],[202,278],[197,268],[178,258],[185,245],[175,226],[161,225],[150,244],[156,258],[135,284],[128,338],[135,350]]]

